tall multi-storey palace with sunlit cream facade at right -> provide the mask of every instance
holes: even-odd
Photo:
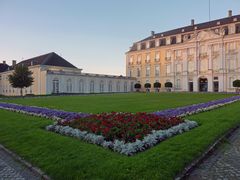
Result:
[[[133,43],[126,74],[144,87],[171,82],[173,91],[232,92],[240,79],[240,15],[155,33]]]

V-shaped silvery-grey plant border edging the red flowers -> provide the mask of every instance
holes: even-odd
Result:
[[[165,130],[152,130],[150,134],[144,136],[141,140],[137,139],[135,142],[127,143],[118,139],[107,141],[102,135],[81,131],[70,126],[58,125],[57,122],[55,122],[53,125],[47,126],[46,129],[62,135],[76,137],[89,143],[97,144],[121,154],[131,156],[137,152],[144,151],[167,138],[185,131],[189,131],[197,125],[198,124],[194,121],[185,120],[184,122]]]

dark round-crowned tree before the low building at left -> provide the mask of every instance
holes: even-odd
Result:
[[[20,88],[22,96],[22,89],[31,86],[33,83],[32,71],[27,66],[17,65],[14,68],[13,74],[8,76],[8,80],[12,87]]]

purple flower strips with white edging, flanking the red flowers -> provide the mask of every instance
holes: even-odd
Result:
[[[175,109],[157,111],[157,112],[153,112],[153,114],[161,117],[186,116],[186,115],[191,115],[194,113],[199,113],[202,111],[208,111],[214,108],[218,108],[238,100],[240,100],[240,96],[233,96],[233,97],[214,100],[206,103],[193,104],[193,105],[183,106]],[[86,117],[91,115],[89,113],[67,112],[67,111],[56,110],[56,109],[48,109],[48,108],[36,107],[36,106],[24,106],[24,105],[10,104],[10,103],[4,103],[4,102],[0,103],[0,109],[6,109],[6,110],[11,110],[15,112],[24,113],[24,114],[40,116],[40,117],[53,119],[53,120],[64,119],[66,121],[71,121],[76,118],[81,118],[81,117]]]

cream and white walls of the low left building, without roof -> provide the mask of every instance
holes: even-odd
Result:
[[[80,69],[64,68],[54,66],[30,66],[29,70],[33,72],[33,85],[23,89],[23,95],[35,94],[45,95],[53,93],[53,80],[58,80],[58,93],[90,93],[90,82],[94,82],[92,93],[111,93],[111,92],[130,92],[133,91],[135,78],[126,78],[120,76],[82,74]],[[51,72],[51,73],[50,73]],[[8,81],[8,75],[13,71],[0,73],[0,94],[6,96],[19,96],[20,89],[12,88]],[[83,88],[80,90],[79,81],[83,81]],[[70,81],[70,86],[68,85]],[[100,82],[101,85],[100,88]],[[112,90],[109,91],[109,82],[112,82]],[[117,88],[119,83],[119,88]],[[124,86],[124,83],[126,85]]]

